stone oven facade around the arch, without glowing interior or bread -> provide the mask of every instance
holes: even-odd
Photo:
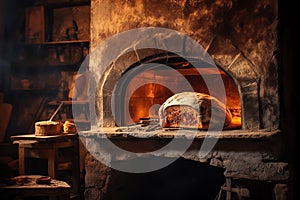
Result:
[[[280,130],[279,120],[277,18],[277,1],[273,0],[92,0],[91,51],[115,34],[141,27],[168,28],[197,41],[230,79],[227,89],[238,94],[241,126],[224,130],[215,147],[202,158],[197,157],[197,152],[207,135],[199,132],[181,157],[224,170],[226,183],[220,190],[227,194],[226,199],[287,199],[291,174],[289,165],[284,162],[281,144],[284,133]],[[175,41],[166,40],[164,46],[170,46],[172,42]],[[128,49],[132,50],[118,55],[113,63],[105,66],[106,71],[97,83],[98,124],[107,132],[81,134],[89,150],[85,157],[86,199],[113,199],[110,193],[118,192],[111,189],[117,182],[118,172],[97,161],[92,149],[102,149],[105,159],[110,162],[135,159],[112,155],[109,150],[97,146],[95,138],[101,139],[104,134],[114,144],[133,152],[149,152],[173,138],[169,133],[161,133],[151,139],[141,139],[114,129],[116,123],[111,102],[118,81],[137,65],[155,59],[166,64],[169,62],[166,60],[174,58],[159,48],[136,50],[135,45],[129,45]],[[98,67],[93,59],[90,60],[91,69]],[[95,59],[101,60],[101,55]],[[213,135],[210,137],[214,138]],[[176,148],[149,156],[176,157],[174,152]]]

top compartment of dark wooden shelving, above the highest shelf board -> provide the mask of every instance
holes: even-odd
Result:
[[[90,1],[27,1],[25,43],[88,40]]]

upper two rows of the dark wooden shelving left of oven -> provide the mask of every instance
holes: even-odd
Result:
[[[23,41],[15,45],[13,69],[76,71],[89,49],[90,0],[27,0],[24,15]]]

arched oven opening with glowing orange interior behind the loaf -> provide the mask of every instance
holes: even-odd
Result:
[[[115,125],[155,124],[159,121],[159,108],[169,97],[181,92],[211,95],[207,84],[218,90],[221,86],[215,80],[220,77],[226,95],[224,105],[232,115],[224,129],[240,129],[240,96],[231,76],[220,66],[195,58],[187,60],[174,53],[149,56],[122,74],[112,94]]]

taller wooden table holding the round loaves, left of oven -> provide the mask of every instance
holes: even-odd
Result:
[[[19,175],[30,173],[28,158],[47,159],[48,176],[59,179],[59,172],[71,172],[71,187],[75,195],[80,193],[79,141],[77,134],[35,136],[24,134],[11,136],[18,144]],[[42,166],[35,166],[42,167]]]

